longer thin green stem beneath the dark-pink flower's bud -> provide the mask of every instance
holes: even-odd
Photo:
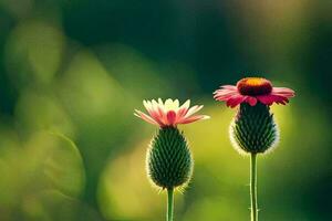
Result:
[[[257,154],[250,156],[250,198],[251,198],[251,221],[258,221],[257,209]]]

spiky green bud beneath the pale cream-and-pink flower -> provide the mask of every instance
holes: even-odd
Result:
[[[191,178],[194,160],[187,140],[175,127],[160,128],[147,150],[147,175],[163,189],[185,186]]]

